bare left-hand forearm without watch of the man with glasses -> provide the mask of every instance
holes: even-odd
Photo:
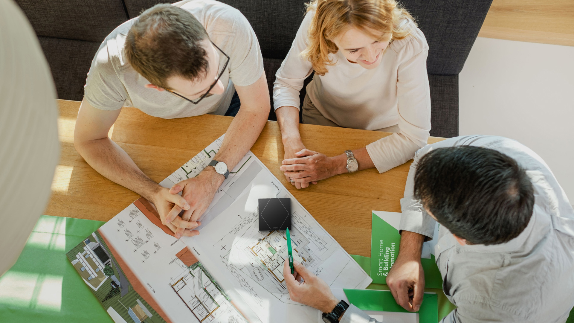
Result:
[[[76,144],[76,149],[95,171],[150,201],[161,188],[109,137]]]

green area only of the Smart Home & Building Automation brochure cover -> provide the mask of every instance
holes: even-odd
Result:
[[[400,213],[397,215],[400,216]],[[386,284],[386,276],[397,259],[400,242],[398,230],[373,213],[370,275],[374,284]],[[442,289],[443,278],[436,266],[435,255],[430,255],[430,259],[421,259],[421,263],[425,271],[425,287]]]

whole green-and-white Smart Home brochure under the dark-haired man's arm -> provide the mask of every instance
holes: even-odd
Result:
[[[371,229],[371,278],[374,284],[386,284],[386,277],[398,256],[401,234],[398,226],[401,213],[373,211]],[[422,246],[421,263],[425,271],[425,287],[443,288],[443,279],[435,261],[435,245],[439,239],[440,225],[437,223],[434,239]]]

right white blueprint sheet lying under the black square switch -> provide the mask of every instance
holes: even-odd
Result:
[[[239,197],[205,225],[199,236],[184,241],[211,255],[202,262],[214,268],[216,276],[231,281],[230,288],[243,291],[243,298],[263,322],[276,322],[277,316],[288,318],[289,322],[316,322],[317,310],[289,298],[283,277],[287,255],[285,232],[259,232],[259,198],[291,198],[289,230],[294,260],[329,286],[364,289],[372,280],[257,157],[251,160],[250,167],[258,165],[259,171]],[[269,313],[277,316],[267,318]]]

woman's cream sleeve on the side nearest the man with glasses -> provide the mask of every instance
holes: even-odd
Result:
[[[313,71],[311,62],[301,57],[301,52],[307,48],[309,43],[308,32],[314,12],[310,11],[303,18],[291,49],[289,49],[289,53],[287,53],[285,60],[283,60],[281,67],[275,74],[276,79],[273,83],[274,109],[282,106],[299,108],[299,92],[303,87],[303,82]]]

